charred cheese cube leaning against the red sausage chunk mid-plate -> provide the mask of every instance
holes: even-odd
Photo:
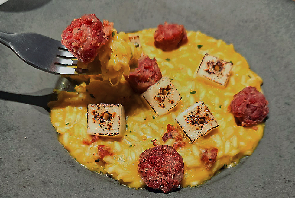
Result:
[[[168,113],[182,98],[167,77],[161,78],[156,84],[141,94],[141,96],[158,115]]]

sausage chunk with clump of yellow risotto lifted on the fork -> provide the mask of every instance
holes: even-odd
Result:
[[[142,49],[130,42],[128,34],[117,33],[113,23],[94,15],[83,15],[63,30],[62,44],[80,61],[77,67],[101,73],[92,78],[103,78],[118,85],[123,73],[137,67]],[[86,79],[90,77],[84,76]]]

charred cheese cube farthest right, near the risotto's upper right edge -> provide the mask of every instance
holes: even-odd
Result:
[[[225,62],[215,56],[205,54],[197,74],[204,78],[208,78],[219,85],[225,86],[229,79],[232,65],[231,62]]]

